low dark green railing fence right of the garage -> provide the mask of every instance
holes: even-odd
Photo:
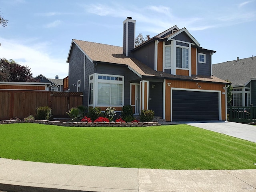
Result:
[[[229,106],[227,109],[229,114],[228,121],[249,123],[256,122],[256,107],[233,107]]]

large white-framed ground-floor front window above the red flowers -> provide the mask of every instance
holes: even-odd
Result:
[[[89,77],[89,105],[122,106],[124,103],[124,76],[106,74],[94,74],[93,76]],[[96,103],[93,103],[94,99]]]

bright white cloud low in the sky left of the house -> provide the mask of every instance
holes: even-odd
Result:
[[[28,46],[25,42],[2,38],[0,42],[0,58],[13,59],[22,66],[30,67],[34,77],[39,74],[47,78],[58,75],[61,79],[68,76],[68,63],[66,60],[56,59],[47,52],[49,43],[34,43]]]

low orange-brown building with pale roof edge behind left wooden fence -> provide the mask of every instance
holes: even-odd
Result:
[[[0,82],[0,90],[48,90],[50,83]]]

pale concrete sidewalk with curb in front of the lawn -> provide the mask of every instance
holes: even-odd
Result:
[[[0,158],[0,190],[15,192],[246,192],[252,170],[154,170]]]

